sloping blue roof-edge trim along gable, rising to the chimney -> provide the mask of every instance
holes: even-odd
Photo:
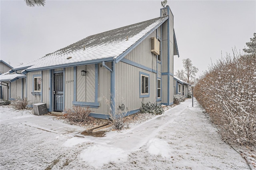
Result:
[[[122,60],[130,51],[132,51],[135,47],[137,47],[143,40],[145,40],[154,30],[156,30],[158,27],[160,27],[166,20],[168,20],[169,16],[164,18],[162,22],[160,22],[158,25],[156,25],[152,30],[150,30],[147,34],[145,34],[140,40],[138,40],[136,43],[134,43],[132,46],[130,46],[126,51],[124,51],[122,54],[120,54],[118,57],[116,57],[114,60],[116,63],[118,63],[120,60]]]

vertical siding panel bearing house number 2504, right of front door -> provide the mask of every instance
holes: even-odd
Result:
[[[64,86],[65,86],[65,108],[71,109],[72,101],[74,99],[74,68],[67,67],[65,68],[65,77],[64,77]],[[70,82],[70,83],[69,83]]]

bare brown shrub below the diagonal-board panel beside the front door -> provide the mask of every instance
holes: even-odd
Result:
[[[84,123],[91,112],[89,107],[72,106],[72,109],[65,109],[63,114],[70,122]]]

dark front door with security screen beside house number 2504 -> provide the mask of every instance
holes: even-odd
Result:
[[[54,111],[63,111],[63,73],[54,74]]]

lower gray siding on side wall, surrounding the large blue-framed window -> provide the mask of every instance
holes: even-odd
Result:
[[[140,98],[140,71],[149,74],[149,97]],[[123,62],[116,64],[116,107],[124,103],[128,111],[140,109],[141,102],[156,101],[156,73]]]

